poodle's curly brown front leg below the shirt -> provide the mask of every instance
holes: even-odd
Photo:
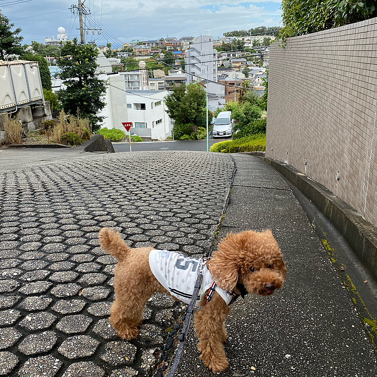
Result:
[[[226,338],[224,321],[230,312],[225,301],[215,293],[212,300],[195,315],[195,329],[199,339],[200,358],[214,373],[228,367],[223,342]]]

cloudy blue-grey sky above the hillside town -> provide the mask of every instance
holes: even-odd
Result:
[[[79,35],[78,16],[69,10],[75,1],[30,0],[4,6],[12,0],[0,0],[0,9],[15,26],[22,28],[24,43],[43,42],[46,36],[56,38],[59,26],[63,26],[72,39]],[[197,37],[205,34],[206,29],[217,38],[232,30],[281,26],[280,5],[281,0],[248,3],[237,0],[227,3],[216,0],[85,0],[91,14],[90,20],[89,17],[86,20],[87,26],[96,27],[102,20],[105,28],[100,36],[89,32],[86,38],[96,38],[98,45],[109,41],[114,47],[133,39]],[[40,16],[30,17],[35,15]]]

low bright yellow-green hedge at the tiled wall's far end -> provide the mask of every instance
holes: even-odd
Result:
[[[266,135],[257,134],[236,140],[221,141],[212,145],[210,152],[237,153],[266,150]]]

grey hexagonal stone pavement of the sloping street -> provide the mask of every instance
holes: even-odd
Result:
[[[112,227],[133,247],[205,253],[233,167],[226,155],[168,151],[0,171],[0,374],[151,374],[182,304],[155,295],[140,337],[117,337],[107,319],[116,259],[98,231]]]

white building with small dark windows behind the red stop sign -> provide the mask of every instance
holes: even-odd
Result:
[[[124,73],[100,77],[108,80],[106,107],[99,114],[105,117],[103,126],[124,131],[122,122],[132,122],[131,134],[146,140],[164,140],[171,135],[171,122],[163,102],[167,91],[128,89]]]

